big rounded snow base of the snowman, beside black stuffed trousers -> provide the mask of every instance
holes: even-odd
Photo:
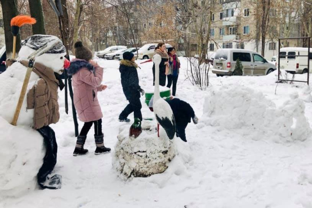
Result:
[[[42,136],[35,130],[12,126],[1,116],[0,135],[0,196],[34,190],[45,152]]]

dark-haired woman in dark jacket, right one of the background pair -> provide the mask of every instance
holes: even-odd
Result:
[[[176,56],[175,48],[168,48],[169,55],[169,71],[167,74],[168,84],[167,87],[170,88],[172,86],[172,95],[176,96],[176,82],[179,76],[179,68],[180,68],[180,60]]]

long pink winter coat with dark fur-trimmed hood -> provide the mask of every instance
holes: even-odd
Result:
[[[94,67],[89,62],[74,59],[68,68],[72,75],[74,105],[82,122],[96,121],[103,117],[98,103],[98,91],[103,79],[103,68]]]

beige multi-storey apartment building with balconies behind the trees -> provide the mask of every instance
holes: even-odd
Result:
[[[275,0],[270,11],[270,26],[265,43],[265,58],[271,60],[277,55],[278,37],[298,37],[299,20],[292,11],[284,12],[278,6],[278,2],[289,0]],[[285,5],[284,5],[285,6]],[[248,49],[261,53],[261,42],[256,41],[257,33],[257,15],[256,0],[217,0],[213,6],[213,22],[210,31],[212,41],[209,43],[208,51],[216,51],[219,48],[237,48]],[[290,17],[287,14],[291,13]],[[285,17],[284,17],[285,15]],[[281,22],[284,18],[285,21]],[[289,21],[292,20],[292,24]],[[285,25],[291,25],[285,26]],[[287,31],[287,36],[283,30]],[[289,31],[290,30],[290,31]],[[261,36],[258,36],[260,38]],[[297,40],[285,41],[283,46],[297,46]]]

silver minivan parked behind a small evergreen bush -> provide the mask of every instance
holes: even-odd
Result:
[[[215,53],[212,72],[216,76],[236,75],[234,71],[236,60],[243,65],[243,74],[250,76],[268,75],[276,70],[276,66],[269,63],[260,54],[245,49],[218,49]]]

